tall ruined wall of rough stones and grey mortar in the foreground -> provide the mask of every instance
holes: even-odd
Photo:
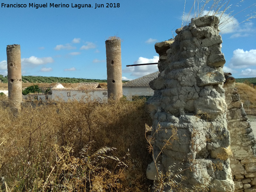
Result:
[[[215,16],[192,19],[189,26],[176,30],[175,40],[155,45],[160,74],[150,83],[155,93],[148,110],[156,164],[147,170],[155,187],[161,180],[159,172],[179,172],[185,178],[173,180],[182,181],[184,187],[199,184],[234,191],[218,23]],[[177,138],[171,138],[174,132]]]

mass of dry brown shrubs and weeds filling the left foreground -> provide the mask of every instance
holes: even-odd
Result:
[[[0,191],[148,191],[145,100],[0,108]]]

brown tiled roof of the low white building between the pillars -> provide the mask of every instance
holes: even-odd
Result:
[[[106,90],[105,88],[101,88],[99,83],[79,83],[76,87],[74,88],[65,88],[61,87],[61,84],[58,83],[52,87],[52,90],[77,90],[77,91],[96,91],[96,90]]]

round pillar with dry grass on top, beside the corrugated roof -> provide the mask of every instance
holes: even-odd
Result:
[[[110,37],[105,41],[107,56],[108,98],[118,100],[123,96],[121,40]]]

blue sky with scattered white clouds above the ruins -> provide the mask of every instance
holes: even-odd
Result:
[[[122,39],[122,76],[130,80],[157,71],[156,65],[126,65],[157,62],[154,44],[176,35],[175,29],[182,25],[185,0],[1,0],[0,3],[27,4],[26,8],[0,6],[0,74],[7,75],[6,45],[20,44],[22,75],[107,79],[105,40],[118,36]],[[29,3],[47,3],[47,8],[28,7]],[[69,7],[50,7],[52,3]],[[71,7],[72,3],[92,7],[78,9]],[[104,8],[95,9],[96,3]],[[107,3],[113,6],[119,3],[120,7],[107,8]],[[187,0],[185,15],[193,3]],[[221,30],[224,70],[236,78],[256,77],[256,19],[243,22],[250,14],[256,15],[255,0],[231,0],[229,5],[226,13],[238,14]],[[211,3],[204,10],[208,11],[210,6]],[[195,9],[192,12],[190,17]]]

